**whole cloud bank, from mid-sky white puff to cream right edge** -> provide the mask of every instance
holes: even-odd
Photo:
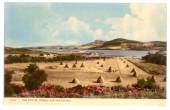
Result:
[[[131,13],[123,17],[111,17],[105,20],[95,19],[94,22],[110,26],[109,30],[91,28],[76,16],[67,19],[47,20],[42,35],[49,36],[51,43],[80,44],[95,39],[112,40],[128,38],[134,40],[166,40],[166,6],[163,4],[130,4]]]

